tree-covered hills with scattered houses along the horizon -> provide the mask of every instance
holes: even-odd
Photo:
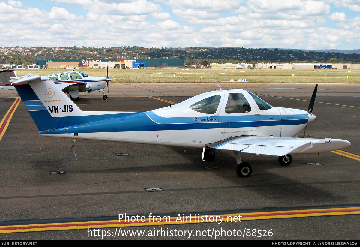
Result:
[[[100,58],[184,58],[187,66],[211,63],[360,63],[360,54],[255,48],[143,48],[119,46],[111,48],[28,47],[30,54],[0,55],[0,63],[35,63],[35,59],[100,59]],[[41,51],[41,53],[40,53]]]

